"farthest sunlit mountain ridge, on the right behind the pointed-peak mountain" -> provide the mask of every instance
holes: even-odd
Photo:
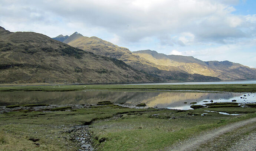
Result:
[[[229,61],[207,61],[191,56],[165,55],[151,50],[132,52],[157,65],[179,68],[187,73],[218,77],[221,80],[256,79],[256,69]]]

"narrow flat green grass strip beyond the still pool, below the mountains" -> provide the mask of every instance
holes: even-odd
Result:
[[[256,92],[256,84],[220,85],[61,85],[61,86],[1,86],[0,92],[8,91],[82,91],[96,90],[200,90],[226,92]]]

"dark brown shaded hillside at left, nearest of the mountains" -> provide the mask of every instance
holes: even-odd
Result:
[[[75,39],[75,35],[69,38]],[[64,40],[64,41],[65,41]],[[95,55],[46,35],[0,27],[0,83],[150,82],[156,78],[121,60]]]

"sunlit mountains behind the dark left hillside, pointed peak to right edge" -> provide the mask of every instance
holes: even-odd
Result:
[[[58,36],[62,37],[62,35]],[[58,37],[53,39],[58,40]],[[64,36],[63,36],[64,37]],[[62,42],[97,55],[124,61],[127,65],[160,78],[160,81],[217,81],[256,79],[256,69],[229,61],[208,61],[192,56],[164,55],[151,50],[131,52],[98,37],[75,32]]]

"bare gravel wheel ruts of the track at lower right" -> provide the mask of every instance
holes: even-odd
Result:
[[[195,138],[192,138],[192,139],[189,139],[189,140],[186,140],[184,142],[181,142],[180,144],[174,144],[172,147],[170,148],[165,148],[165,151],[194,151],[194,150],[197,150],[198,146],[200,146],[201,144],[207,142],[207,141],[211,141],[212,139],[214,138],[217,138],[218,136],[226,133],[226,132],[230,132],[230,131],[233,131],[234,129],[237,129],[237,128],[240,128],[240,127],[243,127],[247,124],[251,124],[251,123],[254,123],[256,122],[256,118],[252,118],[252,119],[247,119],[247,120],[244,120],[244,121],[240,121],[240,122],[236,122],[236,123],[233,123],[233,124],[230,124],[230,125],[226,125],[224,127],[221,127],[221,128],[217,128],[217,129],[213,129],[209,132],[207,132],[206,134],[201,134]],[[252,135],[252,136],[251,136]],[[254,136],[253,139],[250,139],[251,137]],[[247,138],[247,137],[246,137]],[[255,133],[253,134],[250,134],[247,138],[251,143],[247,143],[247,144],[243,144],[243,140],[241,140],[242,142],[239,142],[241,144],[243,144],[242,146],[239,146],[239,144],[237,143],[237,147],[235,148],[235,150],[243,150],[245,151],[246,148],[253,148],[255,147]],[[230,151],[233,151],[233,150],[230,150]],[[254,150],[248,150],[248,151],[255,151]]]

